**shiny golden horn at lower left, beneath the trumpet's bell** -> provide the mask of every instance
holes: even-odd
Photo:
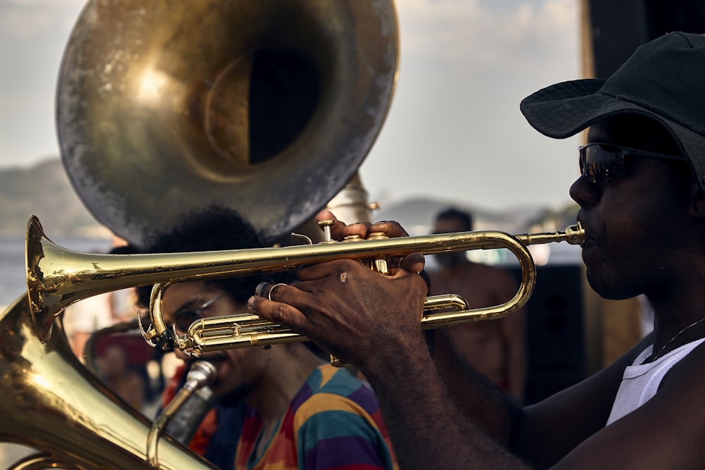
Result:
[[[0,314],[0,440],[47,454],[16,468],[149,468],[152,423],[80,364],[63,331],[40,342],[29,310],[22,296]],[[157,445],[152,468],[215,468],[166,436]]]

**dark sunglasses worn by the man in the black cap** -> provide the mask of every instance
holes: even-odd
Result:
[[[624,173],[624,157],[627,155],[653,156],[657,159],[685,160],[685,156],[659,154],[655,151],[628,149],[615,144],[593,142],[578,147],[580,152],[580,174],[592,183],[611,180]]]

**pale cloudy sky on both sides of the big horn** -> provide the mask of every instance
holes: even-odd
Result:
[[[59,157],[56,80],[85,2],[0,1],[0,168]],[[371,201],[561,208],[580,137],[552,140],[522,98],[581,78],[580,0],[397,0],[400,69],[360,167]]]

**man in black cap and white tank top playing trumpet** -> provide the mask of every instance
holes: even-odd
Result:
[[[589,128],[570,187],[587,278],[602,297],[654,306],[654,332],[614,364],[529,407],[471,372],[446,387],[419,328],[421,256],[384,278],[350,260],[310,266],[271,300],[261,285],[250,311],[360,368],[402,468],[704,468],[705,37],[670,33],[611,78],[542,89],[522,112],[550,137]],[[391,222],[331,231],[407,235]]]

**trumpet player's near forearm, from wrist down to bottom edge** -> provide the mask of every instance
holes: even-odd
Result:
[[[363,372],[379,397],[401,468],[527,468],[463,417],[422,341],[399,350],[402,360],[390,364],[380,354]]]

